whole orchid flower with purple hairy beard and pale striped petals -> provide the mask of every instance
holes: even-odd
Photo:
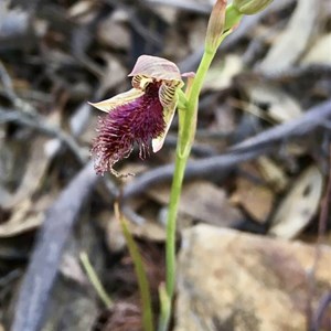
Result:
[[[141,55],[128,75],[132,88],[113,98],[90,104],[106,111],[98,119],[98,136],[92,147],[97,173],[110,171],[114,164],[129,157],[134,145],[139,146],[139,157],[159,151],[170,128],[177,105],[178,92],[183,81],[177,65],[166,58]]]

